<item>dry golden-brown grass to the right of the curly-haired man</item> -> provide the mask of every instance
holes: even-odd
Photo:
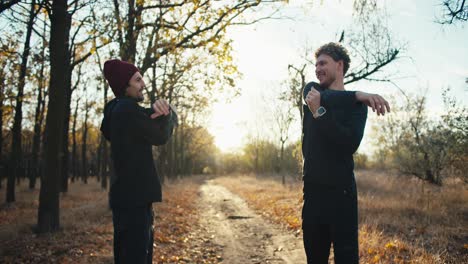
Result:
[[[449,182],[437,187],[376,171],[357,176],[361,245],[374,255],[372,260],[468,262],[466,185]]]

